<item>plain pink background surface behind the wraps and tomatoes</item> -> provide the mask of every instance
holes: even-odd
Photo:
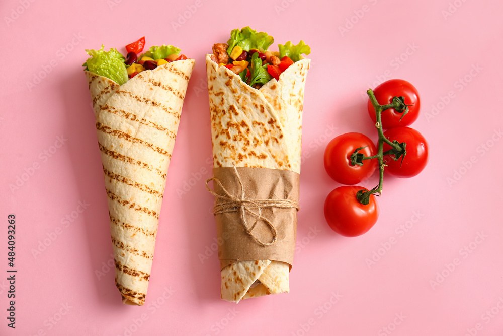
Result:
[[[2,1],[0,334],[501,335],[503,117],[496,99],[503,84],[503,4],[404,4]],[[273,35],[275,46],[303,39],[312,66],[291,293],[235,305],[220,300],[212,252],[204,54],[246,25]],[[104,43],[124,51],[142,35],[147,46],[179,46],[196,68],[167,177],[146,304],[131,307],[121,304],[106,266],[112,253],[107,200],[81,64],[84,49]],[[323,151],[345,132],[376,139],[364,94],[390,78],[420,91],[422,115],[413,127],[429,141],[430,162],[415,178],[387,177],[375,227],[344,238],[323,217],[326,195],[339,186],[323,169]],[[363,185],[375,184],[377,178]],[[15,330],[6,320],[11,213]],[[373,256],[377,261],[368,264]]]

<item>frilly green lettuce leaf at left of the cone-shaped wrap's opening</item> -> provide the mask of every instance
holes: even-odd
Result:
[[[91,57],[83,64],[85,70],[109,78],[119,85],[126,83],[128,76],[124,56],[116,48],[110,48],[109,51],[104,48],[102,44],[100,50],[86,50]]]

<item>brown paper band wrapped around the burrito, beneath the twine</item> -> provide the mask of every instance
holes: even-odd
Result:
[[[214,168],[213,178],[220,181],[228,194],[237,198],[241,196],[241,186],[234,169],[237,169],[244,186],[244,199],[285,199],[298,204],[300,185],[298,173],[268,168]],[[225,194],[219,183],[214,183],[214,189],[219,195]],[[215,205],[219,201],[216,197]],[[215,215],[218,241],[222,242],[218,248],[220,269],[236,260],[283,261],[290,264],[291,268],[297,235],[298,208],[261,208],[262,216],[277,230],[276,241],[270,246],[262,246],[250,237],[243,226],[239,207],[234,209],[232,212]],[[245,214],[248,225],[257,220],[253,214],[248,212]],[[270,242],[273,238],[271,228],[263,220],[257,223],[252,233],[261,241]]]

